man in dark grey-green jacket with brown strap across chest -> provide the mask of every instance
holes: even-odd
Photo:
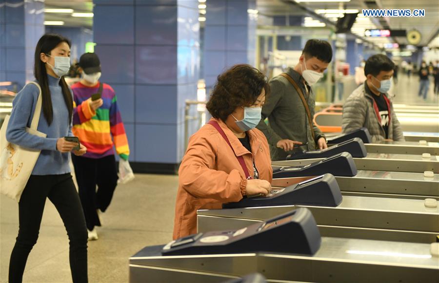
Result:
[[[327,148],[325,136],[312,121],[316,101],[311,86],[323,76],[331,60],[331,45],[323,40],[310,39],[299,63],[270,80],[270,94],[265,99],[257,128],[270,144],[272,160],[285,160],[293,153],[294,145],[304,144],[302,149],[308,150]],[[268,118],[268,124],[265,118]]]

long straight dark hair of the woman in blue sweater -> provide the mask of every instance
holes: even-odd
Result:
[[[37,47],[35,48],[34,75],[41,87],[42,111],[49,126],[53,121],[52,98],[50,96],[49,78],[47,77],[46,66],[44,62],[41,61],[40,54],[44,53],[51,55],[50,52],[61,42],[67,43],[69,47],[72,46],[72,43],[68,38],[55,34],[45,34],[40,38],[40,40],[38,40]],[[73,98],[69,87],[64,80],[64,76],[61,76],[60,87],[64,96],[65,105],[69,111],[69,121],[72,122]]]

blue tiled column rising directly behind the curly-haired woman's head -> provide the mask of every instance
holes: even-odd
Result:
[[[207,0],[204,31],[204,78],[210,89],[217,76],[239,63],[255,65],[255,0]]]

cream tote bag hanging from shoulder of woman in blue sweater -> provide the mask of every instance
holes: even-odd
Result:
[[[38,86],[37,106],[32,117],[31,127],[26,127],[26,132],[40,137],[46,137],[45,133],[38,132],[38,122],[41,114],[41,88],[36,82],[31,82]],[[22,94],[20,94],[22,95]],[[40,150],[27,149],[12,144],[6,140],[6,129],[8,127],[9,115],[4,119],[0,130],[0,191],[10,198],[20,201],[21,193],[34,170],[35,163],[40,156]]]

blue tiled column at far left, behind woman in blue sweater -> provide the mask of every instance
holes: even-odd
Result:
[[[35,46],[44,34],[44,2],[0,0],[0,81],[32,80]]]

